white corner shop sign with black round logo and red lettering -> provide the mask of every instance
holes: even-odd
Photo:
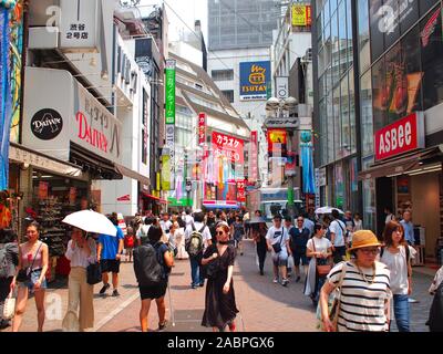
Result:
[[[69,72],[27,67],[25,74],[23,145],[68,162],[72,142],[113,163],[122,162],[122,124]],[[39,112],[52,112],[63,124],[47,124],[48,134],[42,136],[35,131],[35,117],[50,121]]]

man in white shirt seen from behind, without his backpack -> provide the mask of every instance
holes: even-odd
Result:
[[[194,222],[192,222],[185,230],[185,242],[190,238],[192,233],[194,230],[202,232],[202,238],[203,238],[203,251],[197,257],[192,257],[189,254],[189,262],[190,262],[190,274],[192,274],[192,283],[190,287],[193,289],[196,289],[197,287],[204,287],[205,285],[205,278],[204,273],[202,271],[200,262],[202,262],[202,257],[206,248],[208,248],[212,244],[212,236],[209,228],[205,226],[203,222],[205,219],[205,215],[200,212],[194,214]],[[194,226],[194,228],[193,228]]]

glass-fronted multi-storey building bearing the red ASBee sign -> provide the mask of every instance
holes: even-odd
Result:
[[[411,210],[420,259],[435,257],[443,230],[441,13],[439,0],[316,1],[313,11],[322,202],[362,211],[379,236],[385,207]]]

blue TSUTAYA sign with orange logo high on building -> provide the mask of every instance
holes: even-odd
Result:
[[[240,101],[266,100],[270,61],[240,63]]]

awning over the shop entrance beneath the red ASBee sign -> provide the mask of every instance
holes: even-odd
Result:
[[[359,180],[404,175],[421,168],[424,164],[442,162],[442,150],[439,146],[430,147],[373,164],[370,168],[359,174]]]

